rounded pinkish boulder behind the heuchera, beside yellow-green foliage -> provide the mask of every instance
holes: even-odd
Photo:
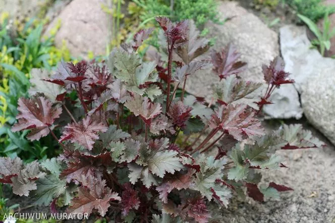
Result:
[[[46,33],[59,19],[62,22],[55,36],[56,46],[62,46],[63,40],[74,57],[87,57],[104,54],[108,38],[108,15],[101,9],[104,0],[73,0],[48,26]]]

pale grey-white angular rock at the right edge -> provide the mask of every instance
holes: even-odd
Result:
[[[292,73],[301,94],[302,109],[311,124],[335,143],[335,60],[310,49],[306,28],[289,25],[281,30],[281,50],[286,71]],[[280,95],[287,89],[277,89]]]

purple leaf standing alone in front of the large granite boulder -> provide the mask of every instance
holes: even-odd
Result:
[[[212,51],[213,71],[220,79],[243,72],[247,68],[247,63],[238,61],[240,57],[241,54],[237,52],[235,46],[232,44],[220,52]]]

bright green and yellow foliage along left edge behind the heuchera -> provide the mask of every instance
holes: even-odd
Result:
[[[27,161],[52,156],[55,149],[50,137],[30,143],[24,138],[27,132],[13,133],[10,128],[18,114],[18,99],[27,95],[31,70],[51,70],[61,59],[70,60],[69,50],[65,45],[61,49],[53,46],[53,36],[59,26],[42,40],[43,24],[38,20],[29,20],[18,31],[8,14],[3,14],[0,28],[0,153],[11,157],[19,155]]]

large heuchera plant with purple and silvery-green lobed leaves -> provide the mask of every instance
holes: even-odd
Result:
[[[259,185],[261,171],[286,168],[276,150],[323,143],[301,125],[265,133],[257,117],[275,87],[293,82],[283,61],[263,67],[268,88],[250,103],[262,84],[239,76],[246,64],[233,45],[200,60],[208,40],[192,21],[156,20],[163,35],[153,60],[137,53],[152,31],[141,30],[101,63],[32,71],[31,97],[19,100],[12,130],[30,130],[30,140],[52,134],[64,153],[28,164],[1,157],[0,182],[52,212],[66,205],[116,222],[220,221],[234,194],[264,201],[292,190]],[[210,66],[218,76],[211,103],[186,96],[188,76]]]

